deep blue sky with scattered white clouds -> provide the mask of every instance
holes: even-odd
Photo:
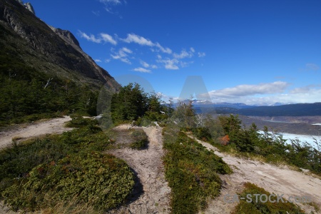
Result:
[[[144,79],[164,99],[208,98],[199,87],[215,103],[321,101],[320,0],[29,1],[123,85]]]

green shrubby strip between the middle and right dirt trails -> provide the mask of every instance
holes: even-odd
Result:
[[[165,178],[172,190],[172,213],[197,213],[220,193],[220,174],[232,173],[222,158],[175,128],[163,129]]]

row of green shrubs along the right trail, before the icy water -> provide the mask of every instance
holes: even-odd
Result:
[[[297,139],[285,143],[282,136],[269,132],[267,127],[263,133],[258,133],[254,123],[250,128],[241,128],[238,116],[221,116],[219,119],[225,135],[230,136],[228,145],[215,145],[221,150],[236,151],[240,156],[260,156],[268,163],[287,163],[321,174],[321,147],[316,140],[316,148]]]

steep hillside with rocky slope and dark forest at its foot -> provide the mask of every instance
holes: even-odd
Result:
[[[57,112],[96,114],[98,91],[120,85],[70,31],[48,26],[31,4],[0,0],[0,121]]]

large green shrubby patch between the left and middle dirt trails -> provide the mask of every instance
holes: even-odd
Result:
[[[84,121],[73,118],[71,124],[78,126],[73,131],[1,150],[0,199],[14,210],[66,213],[81,213],[86,206],[101,212],[123,203],[133,188],[133,173],[124,161],[101,154],[113,139],[96,121]]]

